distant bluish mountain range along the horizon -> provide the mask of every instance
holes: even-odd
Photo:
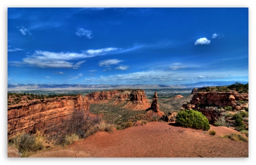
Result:
[[[139,89],[153,89],[153,88],[194,88],[204,86],[225,86],[231,85],[236,81],[203,81],[191,84],[177,84],[177,85],[109,85],[109,84],[26,84],[26,83],[8,83],[8,89],[41,89],[41,88],[101,88],[101,89],[114,89],[114,88],[139,88]],[[248,81],[239,81],[240,83],[248,83]]]

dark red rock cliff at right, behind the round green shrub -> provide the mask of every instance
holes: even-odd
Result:
[[[221,115],[219,107],[231,106],[233,110],[248,107],[248,93],[230,92],[200,92],[198,88],[192,90],[194,93],[190,103],[183,104],[184,108],[192,108],[201,111],[209,121]]]

